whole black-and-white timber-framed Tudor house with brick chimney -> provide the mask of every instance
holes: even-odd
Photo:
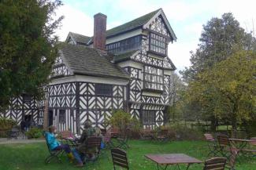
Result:
[[[69,32],[45,101],[20,96],[1,116],[17,121],[30,116],[39,125],[79,133],[84,121],[102,128],[113,110],[122,109],[144,127],[163,125],[176,69],[168,56],[176,35],[165,13],[158,9],[108,31],[106,18],[94,16],[93,37]]]

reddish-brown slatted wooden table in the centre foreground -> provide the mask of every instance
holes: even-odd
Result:
[[[187,156],[187,154],[145,154],[145,157],[154,161],[159,169],[166,169],[169,165],[176,165],[179,169],[180,164],[187,164],[188,169],[192,164],[200,164],[202,161],[195,157]],[[164,167],[161,168],[161,165]]]

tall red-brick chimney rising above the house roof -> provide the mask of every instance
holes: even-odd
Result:
[[[106,50],[106,15],[95,14],[95,28],[93,46],[97,49]]]

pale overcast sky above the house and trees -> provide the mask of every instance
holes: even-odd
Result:
[[[177,71],[190,65],[190,51],[195,51],[202,24],[223,13],[233,13],[246,31],[256,25],[255,0],[63,0],[58,16],[65,16],[62,27],[57,31],[65,41],[69,31],[92,36],[93,16],[104,13],[107,29],[124,24],[151,11],[162,8],[169,24],[173,27],[177,41],[169,44],[169,57]],[[254,23],[254,24],[253,24]],[[255,28],[256,29],[256,28]]]

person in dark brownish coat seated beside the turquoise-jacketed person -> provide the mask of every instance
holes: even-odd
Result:
[[[97,147],[87,148],[87,139],[91,136],[97,136],[96,128],[92,127],[91,121],[85,121],[83,124],[83,128],[84,129],[82,135],[80,139],[78,139],[78,143],[80,143],[80,145],[72,150],[72,153],[76,158],[76,161],[78,162],[78,164],[76,165],[77,167],[83,167],[83,160],[86,156],[83,154],[84,152],[86,152],[87,150],[98,150]],[[91,155],[90,159],[94,160],[95,155]]]

